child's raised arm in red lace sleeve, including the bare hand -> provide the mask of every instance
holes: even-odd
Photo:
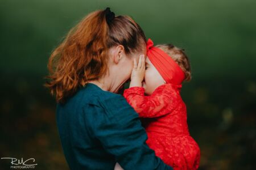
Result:
[[[123,96],[140,117],[159,117],[171,112],[170,109],[167,109],[167,105],[172,102],[170,101],[172,100],[170,88],[159,87],[154,95],[144,96],[144,88],[142,87],[144,73],[145,57],[143,55],[139,57],[138,65],[134,59],[130,88],[125,90]]]

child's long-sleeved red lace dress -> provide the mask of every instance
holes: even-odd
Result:
[[[151,96],[144,96],[143,87],[131,87],[123,96],[142,118],[147,145],[164,163],[174,169],[197,169],[200,148],[189,135],[181,86],[163,84]]]

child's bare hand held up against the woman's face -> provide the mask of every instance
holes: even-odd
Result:
[[[144,74],[145,74],[145,57],[144,55],[141,55],[139,56],[138,64],[135,58],[133,60],[133,71],[131,72],[130,87],[142,87]]]

